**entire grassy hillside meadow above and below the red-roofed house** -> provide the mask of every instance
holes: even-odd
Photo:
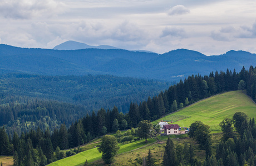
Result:
[[[219,123],[223,121],[225,117],[232,118],[234,113],[239,111],[247,113],[249,117],[256,117],[256,105],[254,102],[250,100],[247,95],[243,94],[242,91],[232,91],[206,98],[205,100],[194,103],[189,107],[162,117],[152,123],[156,124],[161,120],[169,123],[173,121],[173,123],[181,127],[189,127],[191,123],[201,121],[210,126],[212,133],[217,133],[213,135],[213,144],[217,144],[221,138],[221,134],[218,134],[218,132],[221,132]],[[167,138],[168,136],[158,136],[157,139],[159,142],[156,142],[155,139],[149,139],[147,144],[145,143],[145,139],[137,142],[119,144],[119,155],[117,155],[114,164],[141,165],[142,160],[146,157],[148,149],[150,148],[156,164],[160,165],[163,160],[164,146]],[[189,139],[187,134],[171,136],[171,138],[174,138],[173,140],[176,145],[179,143],[184,144],[185,142],[192,143],[195,148],[196,156],[199,157],[199,159],[205,157],[205,152],[200,150],[198,144],[196,144],[193,139]],[[99,140],[94,143],[99,144]],[[90,165],[105,165],[102,160],[99,160],[101,159],[101,154],[97,151],[97,148],[93,146],[92,143],[87,147],[87,151],[58,160],[50,165],[82,165],[86,159],[90,163],[93,162]]]

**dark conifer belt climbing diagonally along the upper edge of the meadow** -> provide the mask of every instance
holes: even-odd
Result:
[[[233,72],[227,70],[226,72],[216,71],[215,74],[211,72],[209,76],[192,75],[184,81],[170,86],[168,90],[160,92],[158,96],[149,97],[147,101],[142,101],[139,104],[130,103],[130,110],[125,115],[120,113],[116,107],[112,110],[102,108],[97,113],[92,112],[91,115],[87,114],[85,117],[81,117],[75,123],[72,123],[68,129],[66,125],[61,125],[61,128],[55,129],[52,134],[50,129],[43,132],[42,129],[37,128],[37,131],[32,129],[29,133],[21,134],[20,138],[14,132],[13,138],[9,138],[5,129],[1,128],[2,138],[5,141],[1,142],[0,147],[6,149],[2,154],[12,154],[13,150],[16,151],[19,146],[21,148],[18,149],[21,149],[22,152],[17,150],[14,157],[18,156],[21,162],[28,162],[28,158],[30,160],[39,153],[43,155],[39,157],[40,159],[37,162],[43,160],[44,163],[50,163],[53,159],[53,147],[58,146],[60,149],[75,147],[90,141],[96,136],[115,132],[118,128],[137,127],[142,120],[156,120],[166,115],[166,113],[176,111],[178,108],[220,92],[247,89],[248,94],[255,100],[255,74],[256,68],[251,66],[249,71],[243,68],[239,73],[235,70]],[[9,110],[12,110],[13,106]],[[41,113],[42,111],[38,112]],[[15,126],[13,126],[13,131],[15,131]],[[17,141],[18,139],[23,141]],[[22,147],[24,143],[28,144],[29,148]],[[16,145],[14,146],[14,144]],[[27,152],[26,154],[31,151],[30,157],[24,155],[24,151]],[[37,151],[37,153],[33,151]]]

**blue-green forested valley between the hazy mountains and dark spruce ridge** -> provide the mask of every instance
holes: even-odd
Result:
[[[0,126],[20,135],[39,126],[43,131],[70,126],[86,113],[116,106],[128,112],[131,102],[140,102],[168,87],[168,83],[109,75],[0,76]]]

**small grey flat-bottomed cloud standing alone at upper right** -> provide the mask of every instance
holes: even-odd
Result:
[[[185,33],[185,30],[182,29],[182,28],[166,27],[162,31],[162,34],[160,35],[160,38],[167,37],[167,36],[185,38],[186,33]]]

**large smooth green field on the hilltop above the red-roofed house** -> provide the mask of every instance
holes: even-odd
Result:
[[[210,126],[211,131],[220,131],[219,123],[224,118],[232,118],[235,112],[245,112],[249,117],[256,117],[256,105],[242,91],[226,92],[206,98],[178,112],[162,117],[161,120],[189,127],[195,121],[201,121]]]

